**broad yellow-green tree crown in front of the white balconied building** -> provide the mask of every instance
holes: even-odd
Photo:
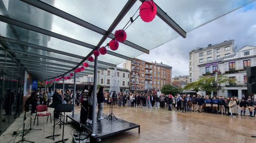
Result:
[[[184,87],[185,90],[194,90],[198,92],[199,90],[201,91],[206,91],[208,93],[212,91],[217,91],[221,89],[221,84],[223,83],[235,83],[236,80],[229,79],[229,77],[226,77],[224,75],[218,75],[218,85],[216,85],[215,82],[215,77],[201,77],[198,81],[188,83],[187,86]]]

